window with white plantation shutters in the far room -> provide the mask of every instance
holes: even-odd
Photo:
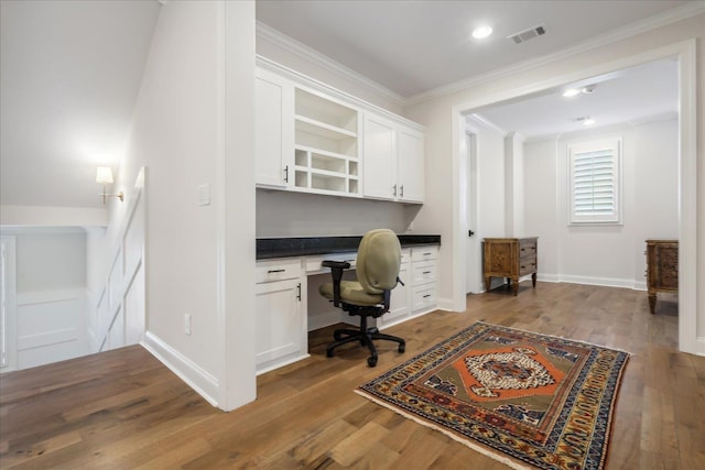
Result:
[[[621,223],[620,141],[568,147],[570,223]]]

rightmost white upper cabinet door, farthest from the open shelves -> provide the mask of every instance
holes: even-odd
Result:
[[[423,135],[403,128],[397,135],[399,199],[423,203],[425,173]]]

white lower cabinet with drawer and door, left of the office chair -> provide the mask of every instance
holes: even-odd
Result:
[[[307,357],[305,292],[301,260],[257,265],[256,363],[262,373]]]

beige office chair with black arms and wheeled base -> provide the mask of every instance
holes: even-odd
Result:
[[[318,292],[336,307],[349,315],[360,317],[359,329],[337,329],[335,341],[328,345],[326,356],[333,357],[333,350],[348,342],[359,341],[367,346],[371,356],[367,359],[370,368],[377,365],[377,348],[373,339],[383,339],[399,343],[399,352],[404,352],[406,343],[402,338],[379,332],[367,327],[367,318],[379,318],[389,311],[391,291],[397,286],[401,264],[401,245],[397,234],[387,229],[370,230],[362,237],[357,252],[357,281],[343,281],[343,271],[350,267],[344,261],[324,261],[323,266],[330,267],[333,282],[323,284]],[[403,285],[403,283],[402,283]]]

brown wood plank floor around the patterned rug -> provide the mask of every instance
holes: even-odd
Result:
[[[437,311],[390,328],[404,354],[380,346],[312,357],[258,379],[258,400],[212,407],[141,347],[0,378],[0,467],[505,469],[441,433],[352,391],[476,320],[633,353],[616,407],[608,469],[705,468],[705,358],[680,353],[677,304],[622,288],[522,283],[468,297],[464,314]]]

